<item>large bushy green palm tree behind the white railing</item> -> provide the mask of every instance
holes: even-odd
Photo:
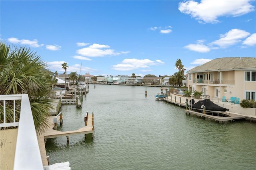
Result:
[[[26,47],[10,47],[6,43],[0,42],[0,94],[28,94],[30,106],[34,119],[36,132],[43,132],[48,127],[47,117],[49,110],[53,109],[51,99],[52,73],[46,70],[46,63],[41,61],[40,56]],[[13,109],[18,114],[19,119],[20,101],[14,103],[6,102],[6,121],[12,121]],[[2,103],[0,103],[0,108]],[[2,115],[2,109],[0,109]],[[0,117],[3,121],[3,117]]]

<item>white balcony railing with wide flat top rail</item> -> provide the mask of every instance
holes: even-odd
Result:
[[[19,122],[15,122],[14,111],[14,122],[6,123],[6,101],[10,100],[14,101],[14,108],[15,101],[21,100]],[[14,170],[43,170],[44,168],[28,95],[0,95],[0,101],[3,101],[4,107],[4,123],[0,124],[1,127],[18,126]]]

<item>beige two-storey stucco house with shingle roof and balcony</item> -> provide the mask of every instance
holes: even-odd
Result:
[[[187,71],[188,89],[221,99],[256,100],[256,58],[224,57]]]

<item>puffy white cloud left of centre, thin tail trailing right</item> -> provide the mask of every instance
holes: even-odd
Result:
[[[120,55],[130,53],[130,51],[115,52],[114,49],[110,49],[109,45],[102,45],[94,43],[89,47],[78,49],[76,53],[87,57],[104,57],[105,55]]]

